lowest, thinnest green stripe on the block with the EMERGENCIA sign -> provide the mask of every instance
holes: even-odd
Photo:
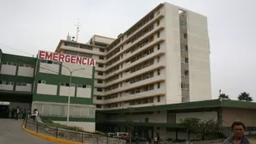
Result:
[[[66,117],[41,117],[42,120],[52,120],[52,121],[66,121]],[[69,117],[70,122],[88,122],[95,123],[95,118],[86,117]]]

